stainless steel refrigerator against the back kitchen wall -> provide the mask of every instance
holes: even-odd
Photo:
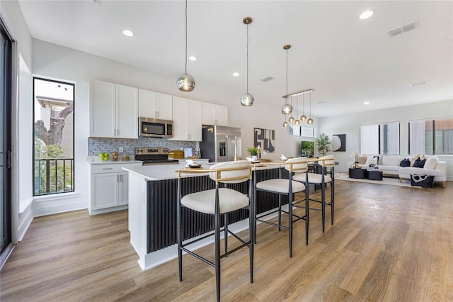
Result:
[[[203,128],[202,134],[201,158],[210,162],[241,160],[241,128],[214,125]]]

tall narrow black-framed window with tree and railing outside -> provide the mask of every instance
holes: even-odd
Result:
[[[33,78],[33,196],[74,191],[74,90]]]

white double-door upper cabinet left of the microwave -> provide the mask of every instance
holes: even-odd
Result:
[[[90,136],[138,138],[138,89],[91,82]]]

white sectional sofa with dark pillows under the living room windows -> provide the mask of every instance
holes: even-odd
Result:
[[[411,167],[400,167],[400,162],[404,159],[411,160]],[[358,164],[362,169],[368,169],[369,164],[377,162],[378,171],[382,171],[383,176],[398,177],[401,182],[402,179],[411,179],[411,174],[429,175],[434,177],[435,182],[441,182],[445,187],[447,181],[447,163],[442,162],[436,156],[427,156],[425,166],[423,168],[412,167],[415,157],[411,156],[383,156],[379,157],[369,155],[367,161],[363,164]],[[361,159],[363,162],[363,157]],[[353,167],[354,162],[348,162],[348,167]]]

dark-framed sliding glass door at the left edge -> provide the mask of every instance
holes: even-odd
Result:
[[[0,23],[0,255],[11,243],[11,40]]]

